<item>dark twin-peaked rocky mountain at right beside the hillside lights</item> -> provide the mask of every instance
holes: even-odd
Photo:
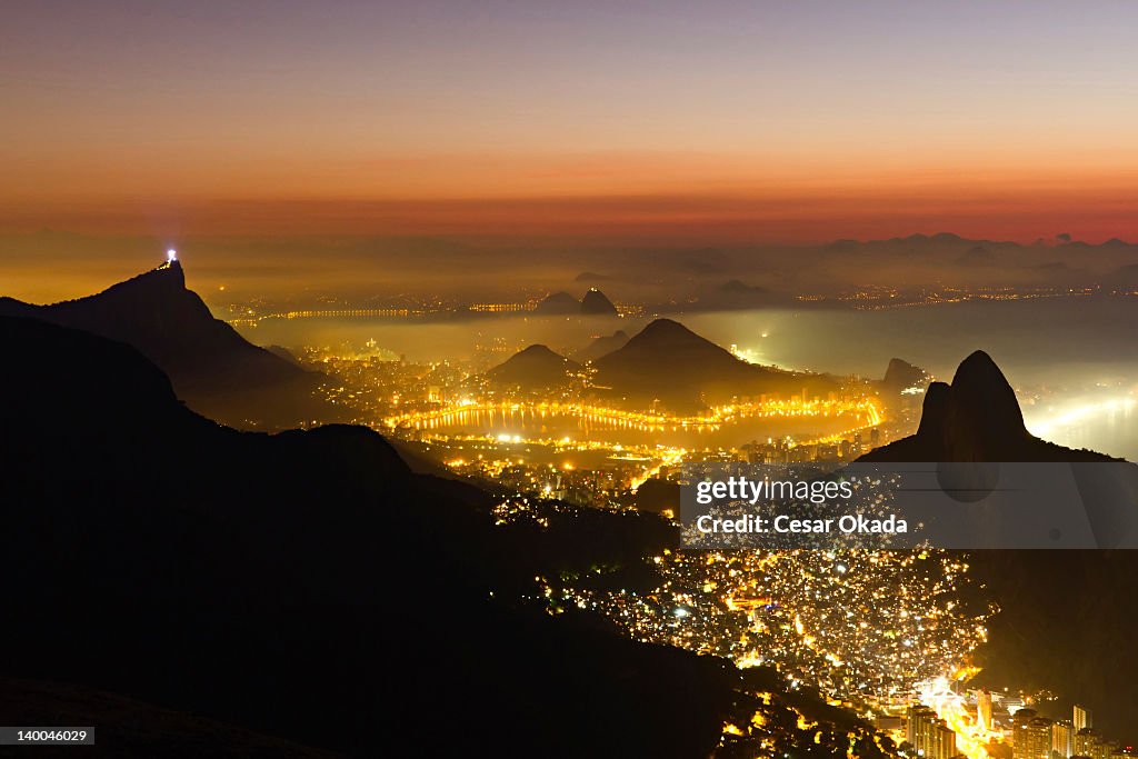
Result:
[[[1092,451],[1075,451],[1032,436],[1023,423],[1015,391],[988,354],[978,350],[960,363],[951,385],[929,386],[916,435],[876,448],[872,462],[1116,462]],[[1113,490],[1128,472],[1090,468],[1073,473],[1083,501]],[[1132,485],[1131,485],[1132,487]],[[1081,508],[1081,506],[1079,506]],[[1092,522],[1094,527],[1094,522]],[[1015,684],[1048,688],[1072,702],[1095,704],[1096,726],[1122,734],[1138,713],[1138,659],[1120,655],[1132,647],[1138,609],[1138,552],[1135,551],[974,551],[966,561],[988,587],[1000,611],[989,622],[981,651],[979,685]],[[1062,599],[1064,622],[1056,621]]]

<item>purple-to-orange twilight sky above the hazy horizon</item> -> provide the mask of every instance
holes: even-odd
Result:
[[[0,231],[1138,239],[1125,0],[7,0]]]

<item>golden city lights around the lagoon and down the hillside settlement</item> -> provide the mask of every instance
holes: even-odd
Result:
[[[539,529],[567,508],[560,503],[636,509],[644,482],[675,481],[684,462],[851,461],[908,434],[920,413],[920,394],[858,378],[826,398],[741,397],[695,414],[613,407],[592,397],[587,364],[555,391],[503,394],[483,372],[508,355],[489,349],[475,360],[413,364],[373,341],[302,353],[327,373],[327,397],[360,413],[357,421],[455,475],[504,488],[511,495],[497,508],[498,523]],[[735,429],[747,434],[734,439],[747,442],[725,443]],[[659,513],[676,517],[668,508]],[[817,690],[863,716],[901,756],[1121,751],[1085,729],[1078,709],[1078,728],[1037,717],[1029,704],[1047,694],[967,685],[998,607],[958,554],[665,550],[651,561],[659,581],[650,588],[593,591],[583,578],[538,577],[531,600],[551,614],[602,613],[637,641],[723,657],[744,670],[773,667],[792,687]],[[728,723],[725,740],[761,745],[762,724],[761,713]]]

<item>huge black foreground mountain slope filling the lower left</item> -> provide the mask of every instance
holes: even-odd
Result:
[[[361,756],[718,742],[739,683],[721,661],[511,601],[591,567],[613,568],[602,587],[649,583],[665,521],[495,526],[493,497],[413,475],[370,430],[238,432],[125,344],[8,317],[0,340],[19,356],[0,372],[0,589],[22,610],[0,675]]]

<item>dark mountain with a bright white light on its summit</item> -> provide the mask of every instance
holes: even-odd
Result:
[[[328,411],[311,397],[318,374],[214,319],[187,289],[176,261],[76,300],[38,306],[0,298],[0,315],[32,316],[132,345],[170,376],[180,397],[213,419],[280,427]]]

